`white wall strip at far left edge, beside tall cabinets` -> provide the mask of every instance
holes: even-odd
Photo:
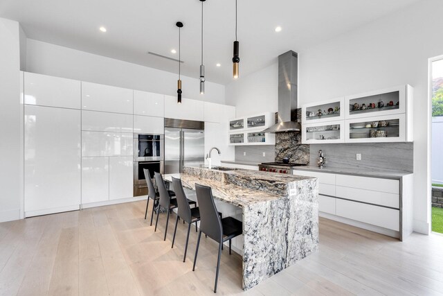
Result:
[[[20,218],[23,162],[20,160],[19,23],[0,18],[0,222]]]

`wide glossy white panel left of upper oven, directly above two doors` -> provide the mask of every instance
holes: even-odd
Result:
[[[132,156],[132,148],[132,133],[82,132],[82,157]]]

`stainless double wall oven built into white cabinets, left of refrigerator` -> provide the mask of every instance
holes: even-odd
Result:
[[[147,195],[147,184],[143,168],[164,173],[163,157],[165,137],[163,134],[134,134],[134,196]]]

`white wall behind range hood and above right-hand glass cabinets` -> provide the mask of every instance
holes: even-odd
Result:
[[[414,229],[422,233],[429,232],[431,204],[428,59],[443,54],[442,11],[443,1],[419,1],[298,55],[299,105],[406,83],[414,87]],[[276,96],[269,97],[275,103],[260,100],[254,105],[251,95],[263,82],[275,85],[271,75],[276,79],[277,72],[263,69],[227,85],[226,101],[239,112],[249,112],[244,106],[254,108],[251,113],[276,106]],[[260,78],[256,85],[251,81],[254,76]]]

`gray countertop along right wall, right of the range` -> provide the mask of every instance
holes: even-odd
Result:
[[[298,166],[296,171],[311,171],[319,173],[335,173],[341,175],[358,175],[361,177],[379,177],[383,179],[400,180],[405,175],[410,175],[410,172],[404,171],[369,171],[362,168],[318,168],[318,166]]]

